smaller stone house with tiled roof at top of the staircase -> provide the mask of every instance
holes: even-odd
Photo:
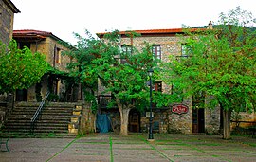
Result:
[[[62,55],[62,52],[75,49],[51,32],[39,30],[14,30],[13,39],[17,41],[18,47],[27,46],[32,52],[40,52],[46,55],[46,62],[52,67],[67,72],[66,65],[72,61],[72,58]],[[46,91],[51,91],[53,95],[59,98],[64,97],[66,93],[65,85],[59,76],[46,74],[43,76],[41,83],[29,87],[28,89],[16,91],[16,101],[37,101],[37,87],[41,88],[41,95],[44,97]],[[71,101],[74,89],[70,89],[66,94],[66,100]],[[81,95],[81,94],[80,94]],[[75,100],[79,95],[76,95]],[[81,96],[80,96],[81,97]],[[65,101],[66,101],[65,100]]]

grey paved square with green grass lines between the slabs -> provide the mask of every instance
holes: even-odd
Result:
[[[256,139],[219,135],[92,134],[78,138],[10,138],[1,162],[255,162]]]

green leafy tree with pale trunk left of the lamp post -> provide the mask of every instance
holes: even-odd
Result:
[[[85,98],[95,99],[98,81],[105,88],[101,93],[114,96],[120,113],[120,135],[128,135],[130,110],[144,109],[149,101],[147,69],[156,63],[151,45],[145,44],[142,51],[127,46],[131,48],[124,52],[119,45],[119,31],[105,34],[101,40],[93,38],[88,32],[86,37],[77,35],[78,50],[69,53],[77,61],[70,64],[72,74],[78,76],[86,87]]]

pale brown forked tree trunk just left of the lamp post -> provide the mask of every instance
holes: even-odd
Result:
[[[129,119],[129,112],[131,108],[123,107],[119,105],[119,112],[120,112],[120,135],[128,135],[128,119]]]

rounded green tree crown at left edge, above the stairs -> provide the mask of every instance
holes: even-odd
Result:
[[[18,49],[14,40],[9,42],[8,49],[2,43],[0,46],[0,92],[27,89],[46,73],[45,55],[33,54],[27,47]]]

